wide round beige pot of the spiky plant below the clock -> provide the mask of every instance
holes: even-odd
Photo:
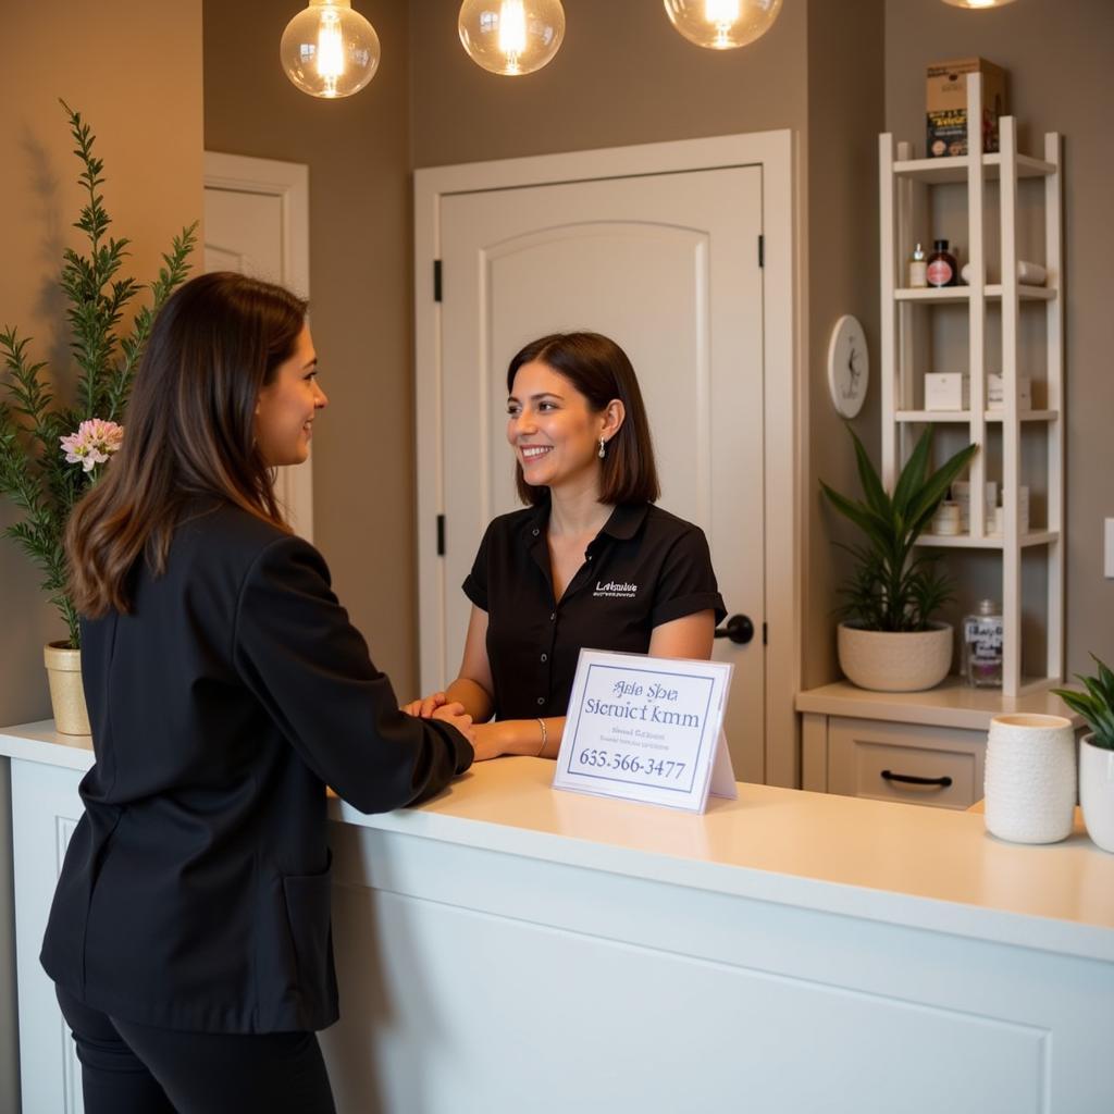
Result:
[[[928,631],[862,631],[840,623],[840,668],[860,688],[911,693],[938,685],[951,668],[952,632],[947,623]]]

